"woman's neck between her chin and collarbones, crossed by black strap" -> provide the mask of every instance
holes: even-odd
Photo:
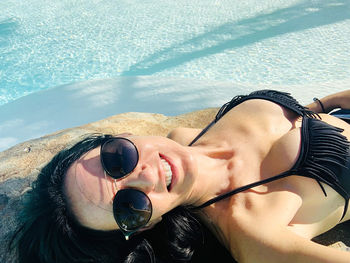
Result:
[[[234,188],[234,170],[236,151],[229,143],[220,145],[196,145],[190,147],[197,162],[197,178],[193,188],[191,205],[198,207],[214,197],[229,192]],[[229,200],[229,199],[226,199]],[[230,242],[227,235],[227,214],[230,202],[221,201],[195,213],[219,242],[228,250]]]

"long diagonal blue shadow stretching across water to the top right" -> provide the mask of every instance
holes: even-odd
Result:
[[[305,1],[268,14],[259,14],[256,17],[218,26],[207,33],[148,56],[124,71],[122,75],[150,75],[225,50],[347,19],[350,19],[349,0],[312,3]],[[215,44],[208,46],[206,44],[208,42]],[[206,47],[203,47],[205,45]]]

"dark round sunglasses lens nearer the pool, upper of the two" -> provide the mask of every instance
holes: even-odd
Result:
[[[136,146],[125,138],[110,139],[102,145],[101,162],[114,179],[131,173],[137,165],[139,154]]]

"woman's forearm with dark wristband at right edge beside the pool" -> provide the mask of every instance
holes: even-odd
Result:
[[[306,105],[306,107],[317,113],[328,113],[336,108],[350,109],[350,90],[337,92],[319,100],[324,106],[325,112],[323,112],[319,101],[314,101],[313,103]]]

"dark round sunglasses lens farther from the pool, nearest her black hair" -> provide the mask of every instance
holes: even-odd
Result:
[[[137,230],[151,219],[152,203],[148,196],[139,190],[122,189],[114,198],[113,214],[121,229]]]

